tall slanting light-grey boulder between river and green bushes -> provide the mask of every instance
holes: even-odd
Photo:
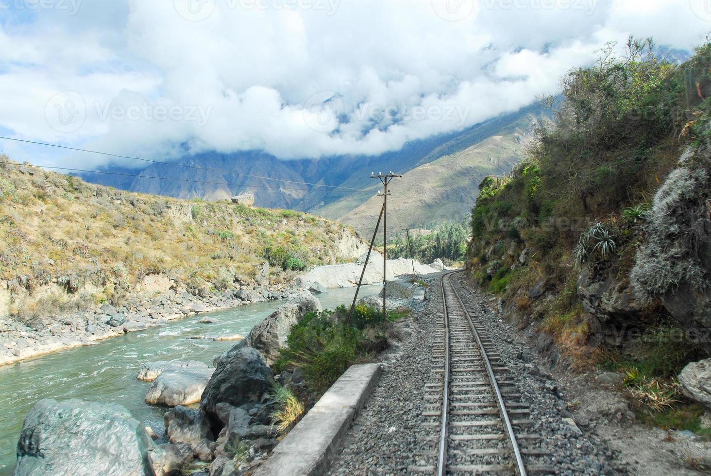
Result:
[[[321,312],[321,302],[310,292],[301,290],[289,296],[267,319],[257,325],[236,347],[253,347],[262,352],[271,365],[279,359],[279,349],[287,344],[287,337],[294,324],[309,312]]]

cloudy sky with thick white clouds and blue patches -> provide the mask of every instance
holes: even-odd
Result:
[[[609,41],[710,32],[711,0],[0,0],[0,135],[147,159],[381,154],[555,94]]]

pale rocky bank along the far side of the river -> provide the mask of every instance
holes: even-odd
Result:
[[[358,282],[364,262],[365,255],[361,255],[355,263],[320,266],[300,275],[295,281],[272,284],[269,282],[269,265],[264,263],[255,279],[237,282],[232,290],[215,292],[205,287],[197,294],[179,288],[165,275],[153,275],[146,277],[139,290],[121,306],[102,304],[84,312],[52,314],[24,323],[11,317],[0,318],[0,366],[63,349],[96,344],[129,332],[162,326],[173,319],[254,302],[282,300],[291,292],[314,285],[323,288],[352,287]],[[387,260],[387,268],[388,279],[395,279],[396,276],[412,273],[412,262],[402,258]],[[421,265],[415,261],[415,270],[422,275],[437,273],[442,270],[442,261],[436,260],[432,265]],[[383,256],[373,252],[363,284],[382,280]],[[235,339],[234,336],[205,337]]]

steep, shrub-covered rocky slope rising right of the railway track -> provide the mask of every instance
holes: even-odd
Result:
[[[625,373],[643,418],[697,430],[675,376],[711,349],[711,45],[652,52],[609,46],[562,79],[525,161],[482,181],[467,267],[573,365]]]

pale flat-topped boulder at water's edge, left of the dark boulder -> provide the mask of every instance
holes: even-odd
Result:
[[[215,369],[188,368],[162,372],[146,393],[146,403],[165,406],[198,403],[213,371]]]

